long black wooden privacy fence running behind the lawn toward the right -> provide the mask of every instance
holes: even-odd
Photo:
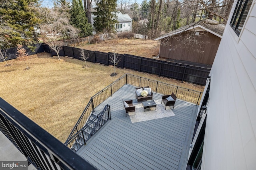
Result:
[[[75,59],[82,60],[80,58],[80,50],[81,49],[75,47],[63,46],[59,54],[61,56],[74,57]],[[112,55],[110,52],[104,53],[100,51],[90,51],[85,49],[84,51],[89,54],[87,61],[92,63],[100,63],[107,66],[114,65],[110,62],[110,55]],[[56,53],[52,50],[50,50],[50,53],[52,55],[56,55]],[[117,64],[117,67],[125,67],[140,72],[148,72],[157,74],[159,76],[200,84],[203,86],[205,85],[206,78],[210,72],[209,68],[160,61],[157,59],[149,59],[129,54],[118,54],[118,57],[120,57],[121,61]]]

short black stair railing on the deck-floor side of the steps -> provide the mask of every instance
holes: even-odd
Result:
[[[109,119],[111,119],[110,106],[106,105],[96,117],[89,119],[84,127],[71,136],[64,145],[76,152],[82,145],[85,145],[90,137],[92,137]]]

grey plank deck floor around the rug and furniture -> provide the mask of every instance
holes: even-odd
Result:
[[[131,123],[122,99],[137,103],[135,86],[123,86],[96,107],[100,112],[109,104],[111,120],[77,153],[100,170],[186,169],[198,107],[177,100],[172,109],[175,116]],[[162,95],[154,93],[153,100],[159,99]]]

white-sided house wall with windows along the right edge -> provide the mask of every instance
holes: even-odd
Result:
[[[256,0],[235,0],[198,109],[187,169],[256,168]]]

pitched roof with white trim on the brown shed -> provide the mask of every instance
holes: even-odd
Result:
[[[188,31],[188,30],[208,31],[208,32],[222,38],[224,29],[225,29],[225,25],[223,23],[219,23],[218,21],[215,21],[215,20],[205,19],[205,20],[191,23],[184,27],[180,27],[170,33],[167,33],[165,35],[162,35],[162,36],[156,38],[155,40],[160,40],[160,39],[172,36],[172,35],[182,33],[184,31]]]

